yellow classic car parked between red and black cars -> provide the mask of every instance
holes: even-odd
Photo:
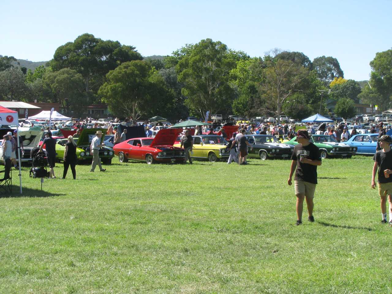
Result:
[[[193,137],[193,148],[191,158],[208,159],[211,162],[217,162],[220,159],[227,159],[230,156],[230,150],[226,149],[227,141],[218,135],[197,135]],[[181,144],[174,144],[174,147],[180,147]]]

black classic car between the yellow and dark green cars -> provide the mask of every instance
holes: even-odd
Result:
[[[261,158],[291,158],[293,145],[281,143],[271,135],[246,135],[253,149],[248,148],[248,157]]]

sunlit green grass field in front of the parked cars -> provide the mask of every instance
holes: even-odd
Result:
[[[371,157],[323,160],[316,222],[305,208],[298,227],[290,160],[249,163],[114,158],[44,191],[24,167],[22,197],[0,198],[0,293],[392,291]]]

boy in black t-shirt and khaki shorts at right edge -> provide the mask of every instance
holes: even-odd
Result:
[[[389,226],[392,227],[392,151],[390,144],[392,138],[388,135],[383,135],[378,139],[381,150],[374,154],[373,171],[372,171],[372,188],[376,188],[376,172],[378,167],[378,194],[381,198],[381,223],[387,223],[387,195],[389,202]]]

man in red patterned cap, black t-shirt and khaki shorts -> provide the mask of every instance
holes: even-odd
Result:
[[[297,223],[302,224],[303,200],[306,199],[309,217],[308,220],[313,222],[313,197],[317,184],[317,166],[321,165],[321,156],[316,145],[309,142],[310,136],[306,129],[298,130],[297,142],[291,155],[291,167],[289,180],[287,183],[292,184],[292,176],[296,170],[294,177],[295,194],[297,196],[296,211]],[[297,169],[296,169],[297,168]]]

